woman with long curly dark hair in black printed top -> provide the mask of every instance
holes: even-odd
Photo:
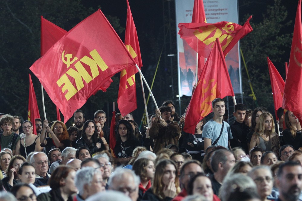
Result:
[[[132,156],[135,147],[140,146],[140,142],[134,137],[134,131],[127,120],[120,120],[116,130],[116,145],[114,147],[115,163],[127,164]]]

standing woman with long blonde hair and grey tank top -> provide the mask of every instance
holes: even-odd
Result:
[[[278,135],[275,132],[274,118],[269,112],[263,112],[252,135],[250,150],[255,146],[263,151],[273,151],[278,154],[280,144]]]

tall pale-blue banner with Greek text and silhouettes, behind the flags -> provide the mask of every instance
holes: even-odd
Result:
[[[207,23],[228,21],[238,24],[237,0],[203,1]],[[176,26],[179,23],[191,23],[194,0],[175,0]],[[177,27],[177,32],[179,28]],[[191,96],[196,82],[196,52],[177,34],[178,68],[180,96]],[[206,61],[206,60],[205,60]],[[204,63],[205,63],[204,61]],[[239,43],[226,55],[226,64],[230,74],[234,93],[242,93],[239,60]],[[198,77],[201,69],[198,69]]]

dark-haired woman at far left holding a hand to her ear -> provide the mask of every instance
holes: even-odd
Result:
[[[26,159],[21,155],[14,155],[9,162],[7,174],[8,176],[2,179],[5,190],[10,191],[11,188],[20,182],[18,177],[18,170]]]

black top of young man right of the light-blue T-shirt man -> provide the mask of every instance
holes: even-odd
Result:
[[[241,147],[246,154],[249,154],[249,148],[247,147],[246,141],[248,131],[249,127],[246,124],[235,121],[234,124],[231,125],[231,132],[233,135],[233,139],[230,140],[231,147]]]

